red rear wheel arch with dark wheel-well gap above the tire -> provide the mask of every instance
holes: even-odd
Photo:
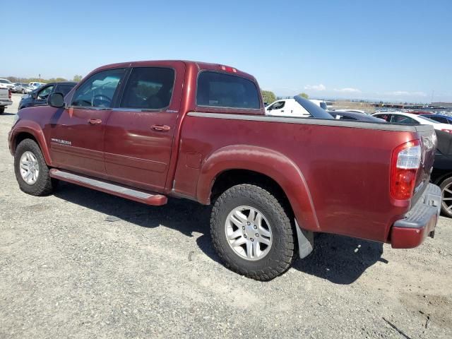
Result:
[[[248,181],[239,180],[240,178]],[[302,172],[285,155],[250,145],[231,145],[215,151],[203,164],[198,178],[196,198],[209,204],[225,182],[234,184],[264,183],[285,198],[299,225],[311,231],[321,231],[311,194]],[[240,182],[242,181],[242,182]]]

